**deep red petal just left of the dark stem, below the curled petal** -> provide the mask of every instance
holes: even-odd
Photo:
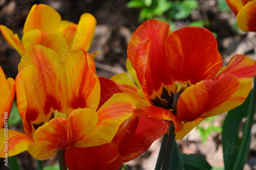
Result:
[[[122,155],[123,162],[127,162],[144,153],[156,139],[167,132],[168,127],[169,124],[165,120],[148,118],[145,114],[140,114],[133,118],[121,135],[115,137],[112,142],[116,141],[115,147]]]

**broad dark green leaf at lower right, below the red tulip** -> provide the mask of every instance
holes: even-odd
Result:
[[[255,88],[253,90],[253,96],[251,96],[252,92],[250,92],[245,102],[239,107],[230,110],[225,119],[222,131],[222,146],[225,169],[239,170],[243,168],[246,162],[247,155],[249,153],[251,138],[250,129],[253,121],[256,99],[256,90]],[[250,104],[251,102],[253,104]],[[248,116],[250,106],[252,107],[252,115],[249,114],[249,121],[247,120],[244,125],[245,128],[241,140],[241,138],[238,136],[239,127],[242,123],[242,119]]]

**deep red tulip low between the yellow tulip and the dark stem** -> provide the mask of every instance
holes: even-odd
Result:
[[[166,121],[148,118],[145,114],[135,116],[120,126],[110,143],[89,148],[72,147],[66,152],[67,167],[71,170],[120,169],[122,163],[144,153],[156,139],[167,132],[168,126]]]

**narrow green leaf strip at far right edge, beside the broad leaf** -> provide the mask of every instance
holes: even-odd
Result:
[[[251,132],[251,127],[252,127],[252,123],[254,120],[253,117],[254,117],[255,104],[256,104],[256,77],[254,77],[253,85],[254,85],[254,87],[252,89],[252,94],[251,94],[251,99],[250,99],[248,118],[245,123],[243,137],[242,137],[242,141],[241,141],[241,145],[240,145],[240,150],[238,152],[237,160],[242,160],[245,157],[244,153],[247,152],[247,151],[245,151],[245,149],[248,148],[248,147],[246,147],[246,145],[248,144],[248,140],[250,140],[250,138],[251,138],[250,132]],[[242,169],[243,168],[243,167],[241,167],[243,165],[241,165],[239,162],[240,161],[234,162],[233,169]]]

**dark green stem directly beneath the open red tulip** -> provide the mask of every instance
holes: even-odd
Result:
[[[174,142],[175,142],[175,127],[173,122],[171,122],[169,127],[169,135],[167,138],[167,143],[166,143],[165,152],[163,156],[162,169],[164,170],[168,170],[170,167],[170,160],[172,159]]]

